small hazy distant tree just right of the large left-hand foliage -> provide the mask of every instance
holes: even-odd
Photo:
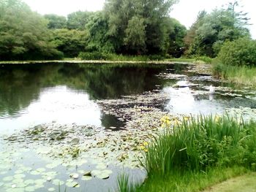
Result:
[[[48,28],[67,28],[67,18],[64,16],[48,14],[44,17],[48,20]]]

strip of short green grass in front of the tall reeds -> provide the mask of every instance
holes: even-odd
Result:
[[[135,191],[198,192],[246,172],[249,171],[244,167],[236,166],[208,169],[207,172],[174,172],[165,176],[152,174],[146,183],[138,186]]]

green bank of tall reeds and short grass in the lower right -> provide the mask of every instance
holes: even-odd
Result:
[[[152,140],[145,154],[148,178],[130,191],[202,191],[256,169],[256,123],[236,118],[184,119]]]

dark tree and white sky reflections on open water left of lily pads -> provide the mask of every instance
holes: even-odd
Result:
[[[162,85],[166,65],[24,64],[0,70],[0,128],[37,123],[77,123],[107,128],[118,120],[101,115],[96,99],[116,99]]]

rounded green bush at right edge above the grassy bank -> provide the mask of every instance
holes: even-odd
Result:
[[[256,66],[256,41],[248,38],[225,42],[218,54],[225,65]]]

